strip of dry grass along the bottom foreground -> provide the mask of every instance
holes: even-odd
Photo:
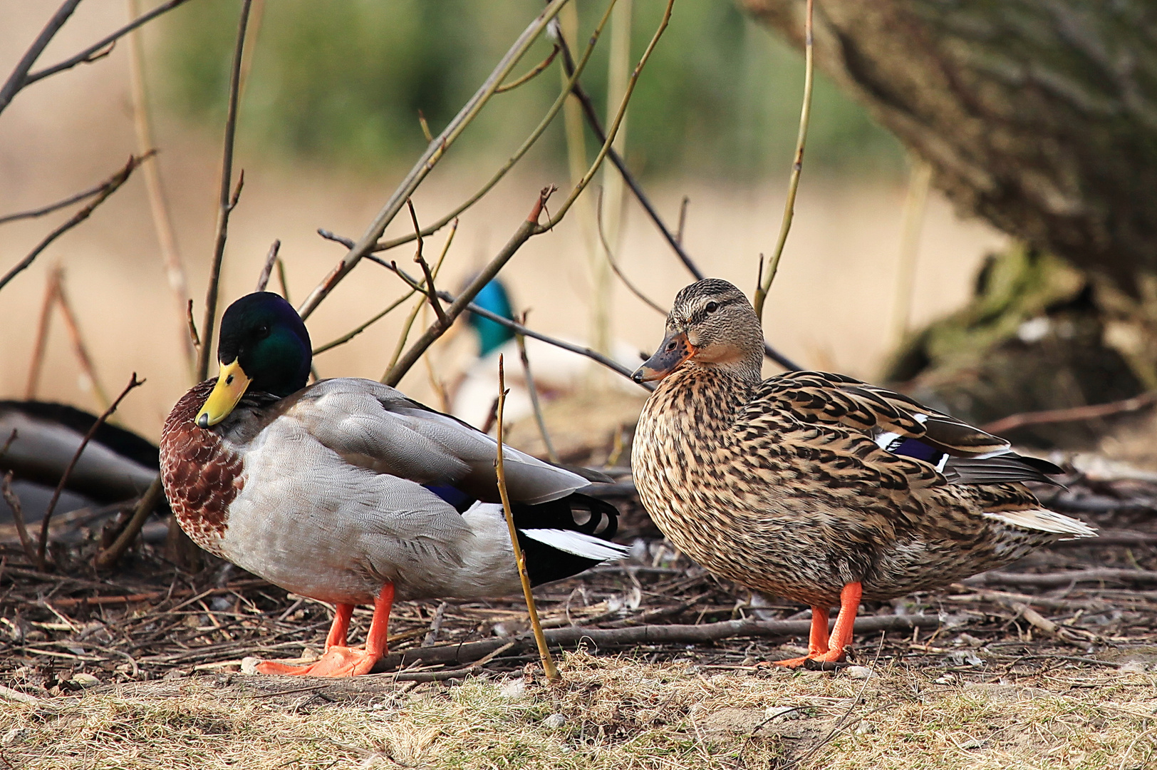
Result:
[[[382,675],[304,691],[316,681],[202,677],[7,705],[0,762],[1141,770],[1157,767],[1157,674],[1134,668],[961,683],[889,667],[864,681],[570,653],[559,687],[528,676],[406,692]]]

